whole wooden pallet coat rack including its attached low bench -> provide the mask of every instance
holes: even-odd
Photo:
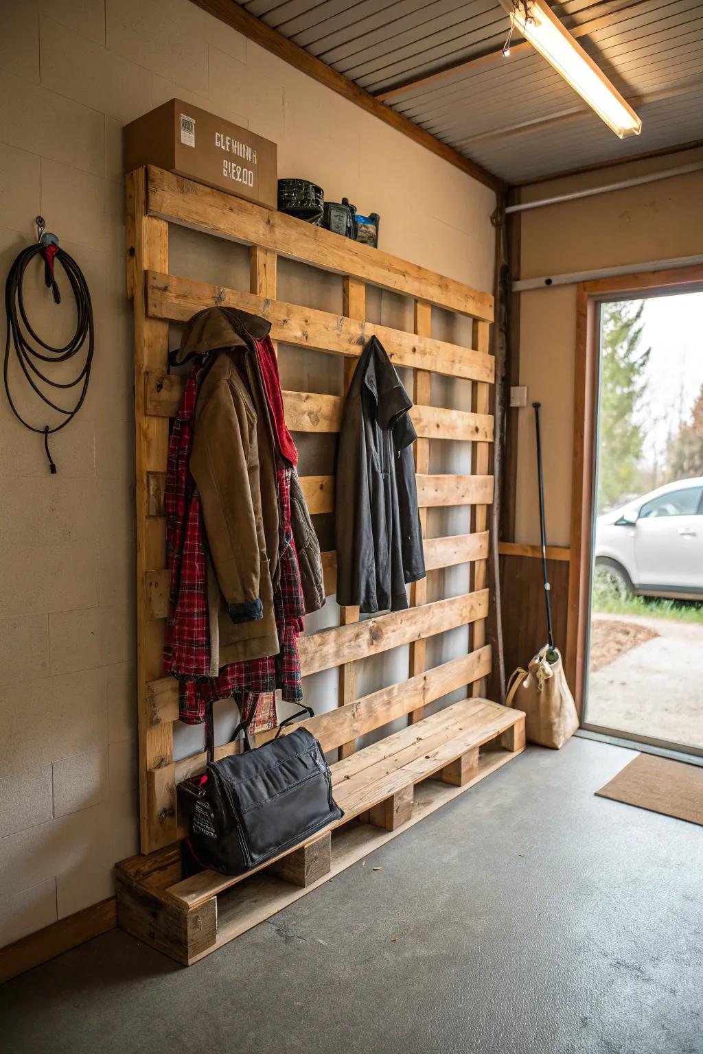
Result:
[[[249,246],[249,292],[170,274],[169,223]],[[126,177],[126,247],[135,331],[141,854],[118,864],[118,919],[128,931],[190,963],[349,866],[524,747],[524,716],[474,698],[483,695],[490,672],[486,569],[487,506],[493,495],[489,391],[494,371],[488,351],[493,305],[490,295],[451,278],[153,167]],[[343,314],[278,300],[278,256],[341,275]],[[366,321],[367,285],[411,297],[414,332]],[[338,829],[243,881],[213,872],[182,878],[179,839],[185,831],[176,787],[201,770],[206,758],[201,753],[174,757],[177,683],[163,677],[161,659],[169,607],[163,516],[169,422],[183,386],[182,377],[167,370],[169,324],[187,321],[215,305],[266,317],[274,343],[344,356],[344,391],[375,334],[397,366],[414,370],[412,419],[418,435],[415,469],[423,530],[430,507],[472,509],[469,533],[426,538],[424,543],[428,570],[470,565],[468,593],[428,602],[424,580],[414,584],[407,610],[359,621],[357,608],[340,608],[338,627],[300,638],[304,676],[339,670],[337,708],[304,724],[326,750],[338,748],[332,772],[346,816]],[[473,320],[472,347],[432,337],[433,306]],[[432,406],[432,372],[471,380],[472,409]],[[291,431],[339,430],[343,395],[286,391],[284,401]],[[430,443],[443,440],[472,445],[471,473],[429,472]],[[333,511],[333,476],[302,476],[301,484],[313,515]],[[325,552],[323,560],[329,596],[335,592],[335,553]],[[467,627],[466,655],[427,669],[427,638],[461,626]],[[410,646],[408,680],[357,699],[357,664],[403,644]],[[463,687],[467,699],[425,717],[429,703]],[[404,716],[408,728],[356,750],[359,736]],[[257,744],[268,735],[259,735]],[[238,748],[219,746],[216,757]]]

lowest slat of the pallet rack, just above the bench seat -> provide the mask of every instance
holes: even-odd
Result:
[[[480,651],[451,659],[409,681],[391,684],[388,688],[380,688],[336,710],[328,710],[307,721],[289,725],[284,734],[302,726],[319,740],[324,750],[332,750],[340,743],[382,728],[390,721],[486,676],[490,671],[490,647],[486,645]],[[259,733],[255,737],[256,745],[269,742],[275,735],[275,728]]]

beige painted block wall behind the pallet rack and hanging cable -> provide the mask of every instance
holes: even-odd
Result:
[[[57,475],[47,473],[41,441],[0,398],[3,944],[109,896],[112,864],[137,846],[121,125],[174,95],[229,116],[278,142],[280,175],[314,178],[328,197],[347,195],[362,211],[377,211],[384,249],[482,290],[492,282],[494,197],[188,0],[3,0],[0,40],[3,275],[41,212],[87,276],[97,327],[89,397],[53,443]],[[190,232],[173,236],[171,267],[202,280],[248,282],[236,247],[213,248]],[[55,337],[62,312],[36,277],[32,306]],[[281,267],[280,295],[340,310],[338,278],[313,279],[292,265]],[[396,297],[370,296],[371,316],[392,324],[407,319],[407,310]],[[435,327],[462,338],[438,312]],[[330,359],[281,357],[284,380],[337,390],[338,364]],[[440,405],[466,406],[469,389],[443,379],[434,395]],[[433,471],[465,464],[460,446],[433,450]],[[302,456],[311,465],[330,452],[304,449]],[[436,533],[452,527],[451,518],[433,524]],[[435,577],[434,593],[465,586],[462,569],[451,570]],[[328,603],[315,624],[336,619]],[[437,656],[465,649],[466,635],[433,647]],[[371,690],[367,681],[373,687],[397,677],[407,677],[402,652],[365,672],[364,690]],[[326,705],[334,699],[331,682],[309,687]]]

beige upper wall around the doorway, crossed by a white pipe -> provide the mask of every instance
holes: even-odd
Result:
[[[633,161],[523,190],[523,200],[567,194],[703,160],[703,150]],[[703,171],[522,214],[521,278],[572,274],[700,254]],[[515,541],[540,538],[531,403],[543,404],[547,541],[569,544],[575,286],[521,294]]]

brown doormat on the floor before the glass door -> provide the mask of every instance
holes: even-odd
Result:
[[[595,794],[703,826],[703,768],[699,765],[640,754]]]

